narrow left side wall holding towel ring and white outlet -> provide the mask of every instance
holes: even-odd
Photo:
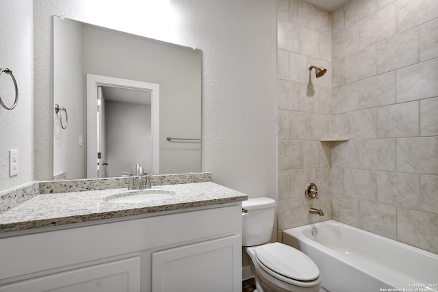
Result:
[[[10,68],[18,84],[18,104],[0,106],[0,191],[34,179],[34,80],[31,0],[0,0],[0,68]],[[8,107],[15,90],[6,73],[0,75],[0,96]],[[9,150],[18,149],[19,174],[9,177]]]

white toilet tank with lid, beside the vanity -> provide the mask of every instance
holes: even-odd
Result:
[[[275,201],[271,198],[249,198],[242,202],[242,245],[253,246],[267,243],[274,226]]]

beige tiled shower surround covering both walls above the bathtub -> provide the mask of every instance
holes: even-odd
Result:
[[[277,22],[279,238],[333,218],[437,253],[438,1],[280,0]]]

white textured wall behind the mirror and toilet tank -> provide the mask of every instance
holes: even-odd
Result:
[[[146,9],[151,2],[34,2],[36,178],[53,175],[52,122],[44,117],[53,103],[51,15],[62,14],[203,50],[203,170],[249,196],[275,198],[275,1],[172,0],[171,10]]]

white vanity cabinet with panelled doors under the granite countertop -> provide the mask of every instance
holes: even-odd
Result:
[[[240,202],[188,210],[1,238],[0,291],[242,291]]]

